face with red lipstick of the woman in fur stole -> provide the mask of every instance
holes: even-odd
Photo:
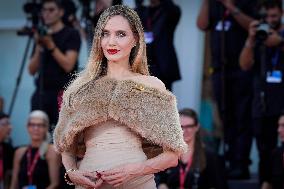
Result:
[[[108,62],[128,62],[135,44],[134,34],[124,17],[117,15],[108,20],[101,38],[101,47]]]

